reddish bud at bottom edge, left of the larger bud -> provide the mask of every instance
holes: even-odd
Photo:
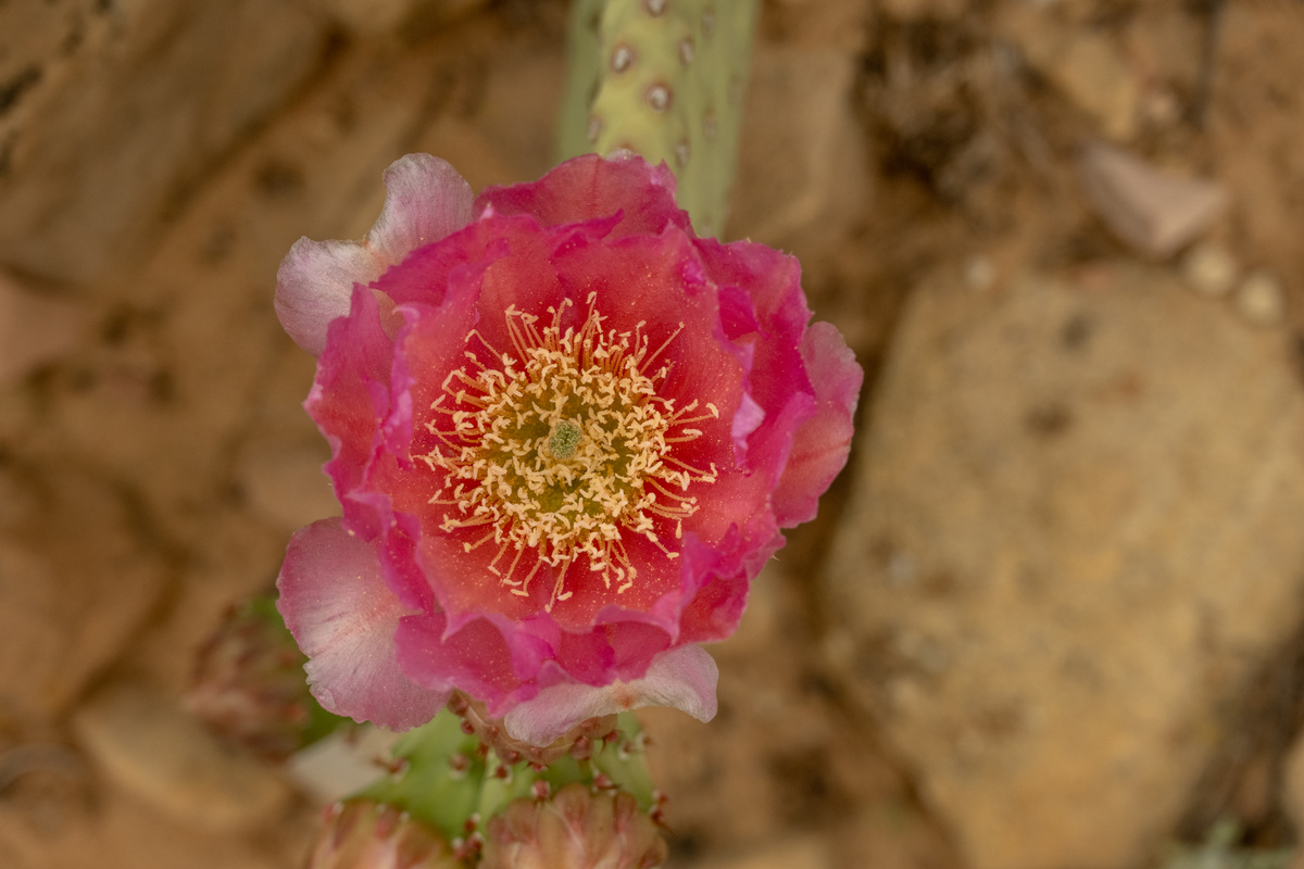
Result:
[[[326,810],[308,869],[460,869],[452,847],[393,805],[355,799]]]

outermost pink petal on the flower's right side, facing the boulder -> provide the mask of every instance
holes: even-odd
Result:
[[[819,496],[846,464],[865,371],[829,323],[811,323],[802,358],[815,387],[815,416],[797,430],[788,466],[775,490],[775,517],[792,528],[815,517]]]

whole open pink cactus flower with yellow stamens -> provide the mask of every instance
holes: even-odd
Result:
[[[385,182],[366,238],[278,275],[343,506],[279,580],[313,693],[408,728],[458,688],[536,745],[648,704],[708,720],[698,644],[852,439],[862,371],[797,261],[698,238],[630,154],[479,198],[428,155]]]

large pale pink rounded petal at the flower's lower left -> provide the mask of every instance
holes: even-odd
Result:
[[[339,519],[291,538],[276,588],[276,608],[308,655],[308,684],[325,709],[409,730],[449,702],[450,689],[417,685],[399,670],[394,632],[409,610],[386,588],[372,547]]]

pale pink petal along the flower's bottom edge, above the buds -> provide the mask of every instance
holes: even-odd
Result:
[[[512,739],[548,745],[587,718],[642,706],[674,706],[708,722],[716,717],[719,679],[715,659],[702,646],[690,644],[657,655],[647,675],[634,681],[544,688],[537,697],[507,713],[503,724]]]

